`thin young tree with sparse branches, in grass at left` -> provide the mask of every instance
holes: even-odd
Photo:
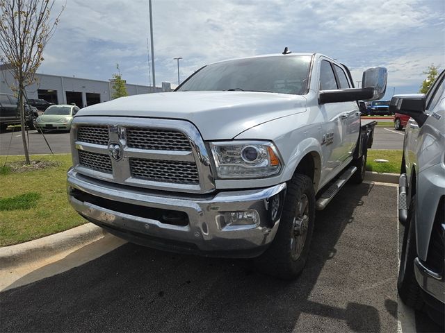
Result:
[[[29,164],[25,137],[24,89],[35,82],[35,72],[43,61],[43,49],[54,34],[60,11],[50,21],[54,0],[0,0],[0,60],[8,64],[16,82],[26,164]]]

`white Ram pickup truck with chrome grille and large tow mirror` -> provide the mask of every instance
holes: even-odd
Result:
[[[302,271],[323,210],[362,182],[375,123],[359,100],[385,94],[387,71],[349,70],[318,53],[227,60],[175,92],[81,109],[67,191],[88,221],[136,244],[255,257],[261,271]]]

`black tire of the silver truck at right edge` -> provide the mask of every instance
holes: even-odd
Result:
[[[401,254],[401,266],[398,269],[397,291],[401,300],[416,310],[423,309],[424,302],[421,289],[414,275],[414,259],[417,257],[416,250],[416,214],[415,196],[408,210],[407,225],[403,232],[403,245]]]

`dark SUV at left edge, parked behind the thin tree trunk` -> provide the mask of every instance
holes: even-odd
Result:
[[[9,125],[20,123],[17,99],[10,94],[0,94],[0,130],[6,130]],[[29,128],[34,128],[34,121],[39,117],[36,108],[25,104],[25,120]]]

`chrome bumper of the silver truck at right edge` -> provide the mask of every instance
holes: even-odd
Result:
[[[445,303],[445,282],[441,275],[423,266],[419,258],[414,259],[414,274],[421,289]]]

